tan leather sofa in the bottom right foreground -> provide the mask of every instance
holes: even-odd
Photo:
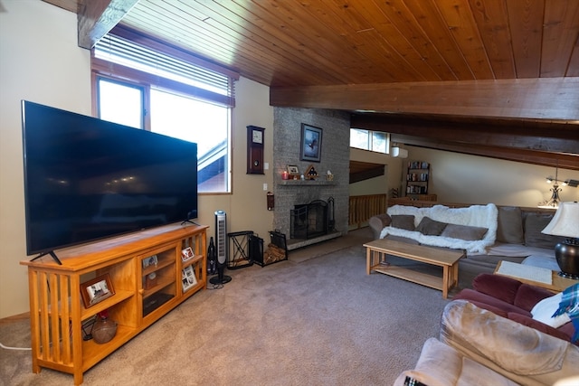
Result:
[[[578,369],[576,345],[453,300],[442,313],[439,340],[426,341],[414,369],[402,372],[394,385],[543,386],[576,381]]]

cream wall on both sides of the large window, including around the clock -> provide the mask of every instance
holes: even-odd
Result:
[[[20,100],[90,115],[90,52],[77,45],[76,14],[40,0],[4,0],[0,13],[0,318],[28,311],[24,176]],[[273,112],[269,88],[251,80],[236,85],[233,112],[233,194],[202,195],[198,222],[211,225],[227,212],[228,231],[271,231],[265,175],[245,174],[246,126],[266,127],[265,162],[272,163]]]

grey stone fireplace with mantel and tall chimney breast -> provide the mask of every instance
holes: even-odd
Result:
[[[323,130],[321,159],[317,163],[300,159],[302,123]],[[350,116],[344,111],[274,108],[272,169],[275,207],[272,228],[289,237],[288,250],[346,234],[349,135]],[[312,164],[319,174],[315,180],[281,179],[281,173],[287,170],[288,165],[296,165],[299,173],[305,174],[308,166]],[[327,171],[331,171],[333,179],[326,178]],[[311,203],[319,207],[314,207]],[[304,210],[304,205],[309,208]]]

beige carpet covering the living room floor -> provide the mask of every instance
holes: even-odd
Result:
[[[301,253],[301,251],[300,251]],[[361,244],[316,259],[227,271],[84,374],[87,385],[388,385],[438,336],[441,292],[365,274]],[[0,343],[29,345],[26,322]],[[31,372],[30,352],[0,349],[0,383],[72,384]]]

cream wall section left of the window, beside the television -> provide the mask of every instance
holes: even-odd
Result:
[[[90,115],[90,52],[76,14],[40,0],[3,1],[0,13],[0,317],[28,310],[20,100]]]

